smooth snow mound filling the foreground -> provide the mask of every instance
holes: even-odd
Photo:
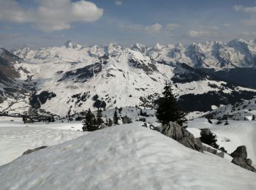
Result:
[[[8,171],[8,172],[6,172]],[[1,189],[255,189],[255,174],[159,132],[91,132],[0,167]]]

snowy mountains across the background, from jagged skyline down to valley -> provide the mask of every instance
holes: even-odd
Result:
[[[253,89],[227,83],[202,69],[255,66],[252,41],[236,40],[227,45],[204,42],[187,47],[83,47],[69,41],[63,47],[26,47],[14,53],[1,49],[0,57],[7,60],[3,61],[5,70],[0,70],[2,76],[12,80],[16,89],[26,90],[22,99],[15,93],[12,99],[1,94],[1,111],[10,113],[28,112],[29,107],[57,115],[98,107],[154,107],[165,81],[173,83],[173,93],[187,112],[204,112],[256,95]],[[1,91],[4,81],[1,79]]]

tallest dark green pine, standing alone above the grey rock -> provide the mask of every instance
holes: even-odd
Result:
[[[157,120],[162,123],[162,125],[173,121],[182,126],[187,121],[185,113],[180,110],[169,84],[165,83],[162,95],[163,96],[157,101]]]

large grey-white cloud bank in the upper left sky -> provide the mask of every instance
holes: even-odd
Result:
[[[11,23],[31,23],[45,32],[71,28],[75,22],[94,22],[103,9],[90,1],[37,0],[38,7],[24,9],[15,0],[0,0],[0,20]]]

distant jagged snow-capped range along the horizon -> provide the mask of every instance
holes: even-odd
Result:
[[[40,50],[28,50],[24,48],[15,51],[17,56],[28,61],[37,62],[39,59],[53,61],[56,57],[83,61],[86,52],[90,56],[103,56],[104,54],[118,54],[122,50],[135,50],[148,56],[154,61],[165,61],[167,64],[185,63],[198,68],[228,69],[234,67],[255,67],[256,44],[255,40],[234,39],[227,44],[223,42],[195,42],[192,45],[159,45],[146,47],[135,44],[132,47],[121,47],[110,44],[108,46],[83,47],[75,42],[68,41],[64,47],[41,48]],[[67,53],[67,50],[69,53]],[[80,54],[79,57],[77,54]]]

